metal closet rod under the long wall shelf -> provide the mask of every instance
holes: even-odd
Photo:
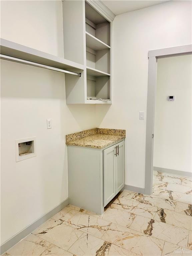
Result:
[[[13,61],[13,62],[19,62],[19,63],[22,63],[22,64],[34,66],[34,67],[50,69],[50,70],[54,70],[54,71],[58,71],[58,72],[62,72],[62,73],[67,73],[67,74],[74,75],[74,76],[81,76],[81,73],[75,73],[75,72],[71,72],[71,71],[68,71],[68,70],[60,69],[60,68],[54,68],[54,67],[39,64],[39,63],[36,63],[36,62],[14,58],[14,57],[11,57],[11,56],[8,56],[8,55],[0,54],[0,58],[2,60],[9,60],[9,61]]]

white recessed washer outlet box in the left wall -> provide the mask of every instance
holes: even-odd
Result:
[[[16,162],[36,156],[36,137],[15,140]]]

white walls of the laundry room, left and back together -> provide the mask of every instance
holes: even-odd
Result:
[[[67,198],[67,133],[126,129],[126,184],[144,187],[146,123],[139,111],[146,111],[147,53],[191,43],[190,6],[167,2],[115,18],[113,104],[97,112],[65,104],[63,74],[2,61],[2,243]],[[3,1],[1,8],[2,38],[63,56],[60,1]],[[29,136],[37,136],[37,157],[16,163],[14,141]]]

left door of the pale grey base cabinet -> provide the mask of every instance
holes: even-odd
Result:
[[[103,150],[104,206],[116,195],[115,146]]]

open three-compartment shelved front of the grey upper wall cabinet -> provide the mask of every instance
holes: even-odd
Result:
[[[111,104],[111,24],[88,2],[85,29],[87,103]]]

